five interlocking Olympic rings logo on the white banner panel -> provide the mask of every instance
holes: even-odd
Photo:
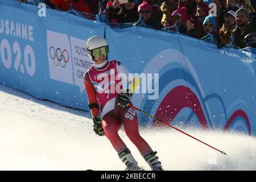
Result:
[[[62,68],[65,68],[66,64],[69,61],[69,54],[67,49],[64,49],[63,51],[61,51],[60,48],[55,49],[52,46],[49,49],[49,55],[51,56],[51,59],[53,60],[53,63],[56,65],[56,67],[60,65]]]

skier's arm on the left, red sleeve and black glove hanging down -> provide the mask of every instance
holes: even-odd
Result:
[[[102,128],[102,120],[100,117],[100,106],[98,105],[94,86],[92,84],[92,81],[90,81],[90,77],[88,73],[85,73],[84,75],[84,85],[85,85],[85,90],[88,97],[89,108],[93,117],[93,131],[95,131],[97,135],[104,136],[105,131]]]

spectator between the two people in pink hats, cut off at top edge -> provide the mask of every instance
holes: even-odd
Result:
[[[167,21],[167,17],[171,16],[171,14],[174,13],[175,10],[177,10],[177,6],[178,6],[177,0],[165,0],[162,3],[161,10],[163,12],[163,18],[161,22],[162,24],[166,23],[166,27],[171,26],[171,23],[168,23]]]

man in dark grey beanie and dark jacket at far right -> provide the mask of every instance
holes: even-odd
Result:
[[[246,9],[240,8],[236,11],[236,23],[238,27],[232,31],[232,34],[234,36],[234,44],[240,48],[245,48],[245,36],[256,32],[255,22],[249,22],[249,18],[249,12]]]

